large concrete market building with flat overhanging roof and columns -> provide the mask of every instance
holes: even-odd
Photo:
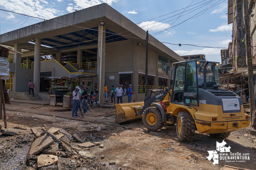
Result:
[[[105,83],[111,89],[127,81],[136,93],[132,100],[144,99],[146,41],[141,39],[145,38],[146,31],[106,3],[1,34],[0,45],[23,53],[10,60],[12,79],[7,86],[19,98],[31,80],[36,96],[41,96],[47,91],[44,77],[97,74],[93,83],[101,86],[102,97]],[[162,88],[170,83],[166,64],[184,59],[153,36],[149,40],[149,88]],[[41,56],[56,60],[40,61]]]

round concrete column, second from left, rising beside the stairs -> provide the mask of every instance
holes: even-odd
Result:
[[[35,41],[35,56],[34,56],[34,92],[35,95],[40,92],[40,57],[41,57],[41,39]]]

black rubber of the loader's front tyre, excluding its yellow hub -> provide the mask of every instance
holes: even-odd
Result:
[[[148,122],[147,122],[148,113],[153,113],[156,115],[156,124],[154,124],[154,125],[148,124]],[[144,110],[143,115],[142,115],[142,122],[148,130],[156,131],[156,130],[161,129],[164,126],[164,122],[162,122],[162,121],[163,121],[162,114],[157,107],[148,107]]]

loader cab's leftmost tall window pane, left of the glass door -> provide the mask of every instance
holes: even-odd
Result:
[[[174,85],[172,87],[173,90],[173,100],[174,102],[183,103],[183,90],[184,90],[184,71],[185,71],[185,63],[177,64],[177,69],[175,73]]]

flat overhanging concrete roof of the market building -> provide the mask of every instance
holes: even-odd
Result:
[[[28,42],[31,41],[31,39],[52,38],[54,36],[58,36],[61,34],[81,31],[86,28],[98,27],[100,21],[104,21],[106,29],[114,33],[127,35],[134,38],[146,38],[146,31],[137,26],[128,18],[124,17],[124,15],[122,15],[106,3],[92,6],[90,8],[72,12],[66,15],[62,15],[60,17],[56,17],[50,20],[69,25],[79,26],[83,28],[68,26],[52,21],[43,21],[33,24],[31,26],[26,26],[8,33],[1,34],[0,44],[9,45],[13,47],[14,43],[19,43],[22,44],[22,48],[29,47],[29,50],[33,51],[33,44],[32,46],[28,46],[28,44],[30,44]],[[132,42],[140,42],[142,45],[146,45],[146,42],[144,40],[136,40],[134,38],[125,36],[124,38]],[[149,44],[155,48],[154,51],[158,52],[159,55],[162,55],[167,58],[171,56],[170,59],[172,62],[184,60],[182,57],[180,57],[180,55],[176,54],[163,43],[153,42],[158,41],[153,36],[149,35],[149,40],[151,40],[149,41]],[[58,49],[49,48],[48,50],[49,52],[52,52],[53,50],[58,52]],[[47,50],[44,49],[44,51],[46,52]]]

